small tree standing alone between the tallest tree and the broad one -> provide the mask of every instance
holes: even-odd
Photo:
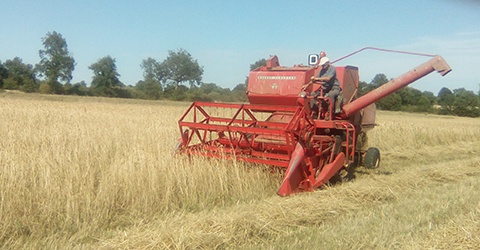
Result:
[[[93,63],[88,68],[93,71],[91,85],[92,87],[99,89],[96,91],[97,93],[110,96],[110,94],[114,94],[115,91],[110,91],[108,89],[123,86],[118,79],[120,74],[117,72],[115,59],[111,56],[105,56],[98,59],[96,63]]]

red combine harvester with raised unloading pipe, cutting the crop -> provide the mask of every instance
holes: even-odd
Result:
[[[320,71],[318,58],[309,60],[311,66],[282,67],[273,56],[252,70],[249,104],[192,103],[178,122],[178,151],[284,168],[280,196],[313,191],[350,173],[354,162],[378,167],[379,150],[364,148],[365,132],[375,125],[376,101],[433,71],[442,76],[451,71],[441,56],[432,56],[357,98],[358,68],[335,66],[343,94],[342,111],[335,114],[333,100],[309,95],[321,86],[312,82]],[[310,108],[311,102],[318,110]]]

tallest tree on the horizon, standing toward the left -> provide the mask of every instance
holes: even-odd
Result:
[[[61,82],[70,83],[75,69],[75,60],[68,52],[67,42],[60,33],[48,32],[42,38],[44,46],[39,51],[40,63],[38,71],[45,76],[53,91],[61,91]]]

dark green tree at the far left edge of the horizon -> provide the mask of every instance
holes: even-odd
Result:
[[[15,57],[12,60],[7,60],[4,67],[8,73],[8,77],[5,79],[4,88],[35,92],[35,71],[31,64],[25,64],[22,62],[22,59]]]

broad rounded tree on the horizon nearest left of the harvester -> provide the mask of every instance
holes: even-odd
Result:
[[[203,67],[186,50],[170,50],[167,59],[158,66],[157,75],[164,84],[173,84],[175,89],[184,82],[198,86],[202,81]]]

